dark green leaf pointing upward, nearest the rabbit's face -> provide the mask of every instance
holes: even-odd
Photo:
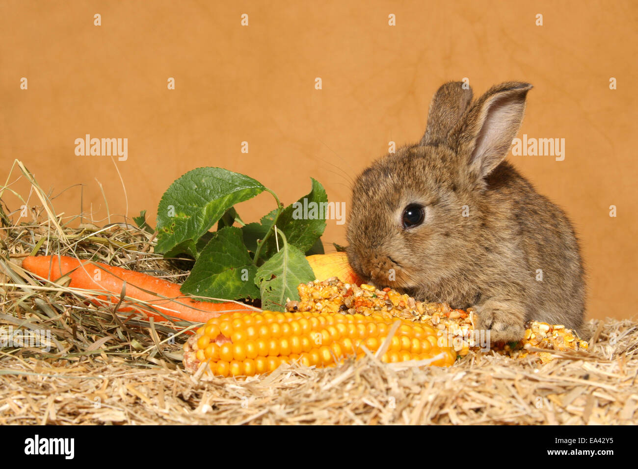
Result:
[[[297,200],[295,204],[288,205],[277,220],[277,228],[284,232],[288,244],[299,248],[302,253],[312,248],[325,230],[325,207],[328,197],[318,181],[312,179],[312,182],[313,187],[310,193]],[[304,199],[306,199],[305,202]],[[273,219],[274,211],[262,218],[262,224],[270,227]],[[281,246],[281,241],[279,245]],[[273,233],[262,250],[262,257],[271,257],[276,252],[277,246]]]

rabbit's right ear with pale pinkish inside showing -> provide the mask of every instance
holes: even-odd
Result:
[[[521,128],[529,83],[507,82],[481,96],[450,132],[449,142],[457,154],[469,154],[470,171],[486,177],[509,153],[512,139]]]

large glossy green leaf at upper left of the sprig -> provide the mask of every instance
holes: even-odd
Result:
[[[230,207],[263,190],[255,179],[222,168],[197,168],[182,175],[159,202],[156,252],[180,246],[197,257],[195,244],[200,237]]]

